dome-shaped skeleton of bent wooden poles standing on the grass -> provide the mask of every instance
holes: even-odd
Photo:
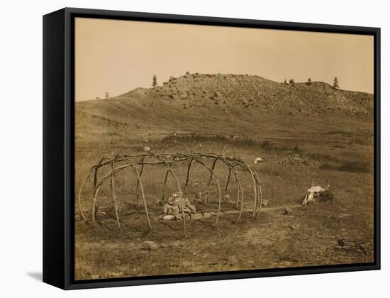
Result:
[[[211,167],[206,165],[206,161],[210,160],[212,162]],[[238,175],[237,168],[240,167],[244,172],[250,175],[250,178],[252,180],[252,220],[255,219],[255,217],[260,218],[260,209],[262,206],[262,187],[260,184],[260,178],[255,169],[249,165],[245,160],[241,158],[234,158],[231,156],[225,156],[225,155],[218,155],[216,153],[193,153],[189,151],[189,153],[160,153],[160,154],[154,154],[154,153],[139,153],[139,154],[133,154],[133,155],[116,155],[115,158],[102,158],[96,165],[91,167],[91,170],[87,173],[84,180],[82,180],[82,184],[79,188],[78,192],[78,207],[79,212],[82,217],[83,221],[88,221],[87,216],[84,213],[84,210],[82,209],[82,190],[85,186],[85,184],[90,181],[91,177],[94,177],[92,183],[92,204],[91,204],[91,221],[95,224],[96,223],[96,210],[98,208],[98,194],[99,190],[101,189],[101,186],[104,183],[108,183],[111,187],[111,198],[112,198],[112,204],[113,204],[113,211],[116,216],[116,221],[118,224],[118,228],[121,229],[121,221],[119,219],[119,212],[118,212],[118,202],[116,201],[116,190],[115,190],[115,177],[118,175],[119,172],[122,170],[125,170],[126,168],[133,169],[133,172],[135,173],[135,176],[137,177],[137,185],[136,185],[136,196],[137,196],[137,202],[138,202],[138,189],[140,189],[141,197],[143,201],[143,206],[145,209],[145,216],[147,221],[147,226],[151,230],[152,225],[150,223],[150,215],[149,211],[147,210],[147,203],[146,203],[146,197],[145,197],[145,188],[143,187],[143,182],[141,180],[141,176],[143,172],[145,172],[145,168],[149,166],[158,166],[162,165],[166,167],[165,172],[165,179],[164,179],[164,185],[162,187],[162,200],[165,200],[165,188],[167,184],[167,180],[169,175],[171,175],[174,179],[174,181],[177,184],[177,189],[179,190],[179,199],[182,201],[182,204],[184,206],[184,199],[187,198],[187,186],[189,183],[189,178],[191,177],[191,166],[194,165],[194,163],[201,165],[204,167],[209,173],[207,186],[209,187],[211,184],[211,180],[214,178],[216,181],[216,187],[218,189],[218,211],[216,214],[216,221],[215,226],[218,225],[218,219],[221,214],[221,201],[222,201],[222,189],[221,189],[221,182],[218,178],[218,175],[216,174],[216,166],[218,165],[218,161],[221,165],[224,165],[225,168],[228,170],[228,178],[225,184],[224,194],[227,194],[228,192],[228,186],[232,177],[235,178],[235,189],[236,189],[236,206],[240,204],[240,211],[238,212],[238,219],[237,223],[240,221],[241,216],[244,211],[244,189],[243,184],[240,181],[240,175]],[[186,179],[185,183],[182,184],[179,180],[179,177],[177,174],[172,170],[172,165],[179,164],[182,162],[189,162],[186,170]],[[138,168],[140,168],[140,171],[138,171]],[[98,172],[101,170],[105,170],[106,174],[103,175],[103,177],[99,178]],[[184,192],[182,192],[182,189]],[[184,235],[186,235],[186,219],[184,216],[184,211],[182,209],[182,221],[183,221],[183,231]]]

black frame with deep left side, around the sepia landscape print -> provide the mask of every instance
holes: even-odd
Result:
[[[374,36],[374,263],[74,280],[74,18],[108,18]],[[380,28],[65,8],[43,16],[43,282],[62,289],[380,269]]]

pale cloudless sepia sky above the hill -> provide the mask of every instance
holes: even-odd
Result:
[[[76,100],[126,93],[186,71],[332,83],[374,92],[374,38],[257,28],[76,18]]]

